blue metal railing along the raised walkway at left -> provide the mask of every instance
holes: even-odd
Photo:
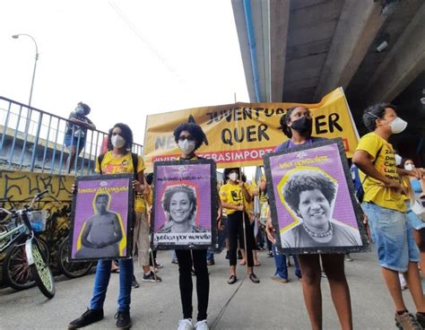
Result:
[[[108,134],[91,129],[82,134],[78,128],[64,117],[0,96],[0,167],[91,174],[98,155],[106,151]],[[65,135],[69,146],[65,146]],[[71,164],[73,148],[76,156]],[[133,143],[132,152],[142,155],[143,146]]]

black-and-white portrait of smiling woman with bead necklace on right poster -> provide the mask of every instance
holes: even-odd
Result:
[[[336,185],[317,170],[300,169],[282,187],[285,203],[301,220],[281,235],[282,247],[361,245],[359,230],[332,218]]]

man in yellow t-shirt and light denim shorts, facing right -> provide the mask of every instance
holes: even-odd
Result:
[[[418,271],[419,250],[412,223],[406,219],[400,176],[421,179],[423,173],[396,167],[395,151],[388,139],[402,133],[407,123],[397,116],[394,105],[379,103],[365,109],[363,123],[370,133],[361,137],[352,158],[360,169],[365,192],[361,207],[368,216],[381,273],[395,303],[395,325],[400,329],[421,329],[425,327],[425,300]],[[416,315],[409,313],[404,304],[399,272],[411,291]]]

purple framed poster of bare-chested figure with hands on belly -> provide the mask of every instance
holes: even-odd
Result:
[[[133,247],[133,174],[77,177],[69,259],[126,258]]]

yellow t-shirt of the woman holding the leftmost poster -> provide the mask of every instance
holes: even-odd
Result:
[[[134,173],[132,153],[127,152],[123,157],[114,157],[112,152],[106,152],[102,163],[99,166],[99,161],[96,161],[96,172],[102,174],[122,174]],[[143,158],[137,159],[137,173],[145,169]],[[137,179],[137,178],[136,178]],[[146,212],[146,205],[142,194],[136,194],[134,200],[134,211],[139,213]]]

